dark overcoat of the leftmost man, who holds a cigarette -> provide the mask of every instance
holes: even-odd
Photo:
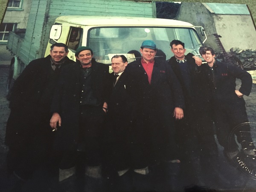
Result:
[[[61,67],[74,63],[68,57]],[[6,127],[6,144],[22,147],[40,128],[49,130],[50,105],[58,75],[51,67],[51,56],[31,61],[15,81],[10,95],[11,113]],[[51,84],[49,85],[49,81]]]

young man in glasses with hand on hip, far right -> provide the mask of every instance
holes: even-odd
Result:
[[[236,126],[248,122],[243,96],[249,96],[252,89],[250,73],[225,61],[216,60],[215,52],[211,47],[203,46],[199,51],[207,61],[207,65],[203,69],[208,76],[211,90],[208,97],[213,103],[216,135],[218,142],[224,147],[224,155],[229,160],[234,160],[239,154],[239,146],[235,140],[236,134],[237,141],[241,144],[241,152],[255,158],[250,126],[236,128]],[[241,79],[239,90],[236,90],[236,78]],[[233,130],[234,134],[232,134]]]

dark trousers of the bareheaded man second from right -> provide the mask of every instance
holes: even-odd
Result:
[[[175,121],[176,140],[182,170],[181,180],[186,184],[204,185],[218,172],[218,148],[213,123],[207,111],[189,111]]]

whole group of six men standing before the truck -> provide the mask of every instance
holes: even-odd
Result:
[[[232,160],[239,149],[235,137],[228,138],[234,126],[248,121],[242,97],[250,94],[252,78],[215,60],[210,47],[200,48],[207,62],[201,65],[198,57],[185,55],[183,42],[170,46],[174,56],[163,61],[155,57],[154,41],[145,40],[140,59],[128,64],[124,55],[113,56],[110,74],[90,47],[79,47],[74,62],[65,44],[53,44],[50,55],[32,61],[12,89],[10,172],[26,180],[50,162],[64,190],[72,188],[80,163],[84,191],[171,191],[180,169],[198,185],[205,184],[204,175],[217,178],[212,121]],[[236,133],[242,152],[256,156],[250,127],[240,131],[247,133]]]

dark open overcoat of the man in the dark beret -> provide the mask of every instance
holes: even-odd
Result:
[[[110,91],[109,67],[92,60],[92,89],[101,105],[107,101]],[[58,87],[52,99],[51,112],[61,116],[61,127],[56,131],[54,148],[74,150],[79,134],[79,107],[81,93],[81,64],[63,67]]]

